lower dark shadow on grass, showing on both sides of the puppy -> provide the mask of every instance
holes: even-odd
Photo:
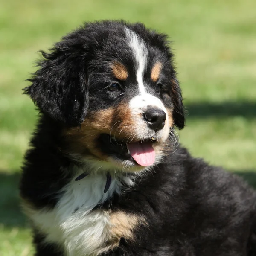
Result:
[[[232,170],[230,171],[232,172]],[[256,189],[256,170],[235,172]],[[27,227],[28,221],[21,212],[19,200],[20,174],[0,171],[0,224],[6,227]]]

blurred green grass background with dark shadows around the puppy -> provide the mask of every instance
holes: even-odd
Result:
[[[256,186],[255,10],[255,0],[1,0],[0,255],[33,254],[17,190],[37,118],[24,80],[39,49],[84,21],[122,18],[167,33],[188,109],[181,143]]]

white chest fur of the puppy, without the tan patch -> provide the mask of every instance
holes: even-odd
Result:
[[[106,250],[113,224],[109,211],[92,209],[114,192],[120,193],[122,184],[112,178],[104,193],[106,175],[88,175],[79,181],[75,181],[76,177],[64,187],[54,209],[35,210],[26,205],[24,208],[35,227],[46,235],[45,242],[58,244],[66,256],[97,255]],[[132,183],[127,177],[124,182]]]

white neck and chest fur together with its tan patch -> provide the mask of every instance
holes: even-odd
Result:
[[[138,217],[129,218],[122,212],[119,215],[118,211],[112,217],[111,209],[100,206],[114,194],[121,195],[123,189],[131,188],[132,177],[113,175],[106,190],[108,172],[98,170],[85,175],[85,169],[79,166],[67,171],[72,175],[59,193],[58,204],[53,209],[29,209],[30,218],[46,234],[45,241],[64,244],[68,255],[96,255],[108,250],[106,244],[116,246],[116,240],[112,241],[112,237],[116,239],[128,234],[127,238],[131,238]],[[119,234],[113,233],[115,230]]]

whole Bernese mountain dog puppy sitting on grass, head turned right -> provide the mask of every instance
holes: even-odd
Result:
[[[86,23],[42,55],[20,183],[37,256],[256,255],[256,193],[177,146],[166,35]]]

